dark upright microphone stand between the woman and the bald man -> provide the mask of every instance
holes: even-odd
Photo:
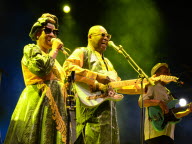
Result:
[[[66,144],[74,143],[76,139],[76,116],[75,116],[75,97],[72,92],[72,84],[75,79],[75,71],[71,72],[71,75],[68,76],[68,86],[67,86],[67,141]],[[71,138],[71,139],[70,139]]]

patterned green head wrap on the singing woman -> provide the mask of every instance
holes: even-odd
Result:
[[[55,15],[44,13],[40,18],[38,18],[37,22],[35,22],[31,28],[29,36],[33,41],[37,40],[37,32],[40,31],[43,27],[47,25],[47,23],[51,23],[55,25],[55,28],[58,29],[58,19]]]

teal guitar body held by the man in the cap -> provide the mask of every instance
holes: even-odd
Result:
[[[177,123],[180,119],[177,119],[172,112],[179,100],[170,101],[167,106],[169,108],[168,114],[163,114],[159,106],[149,107],[149,118],[152,120],[152,125],[157,131],[162,131],[168,123]]]

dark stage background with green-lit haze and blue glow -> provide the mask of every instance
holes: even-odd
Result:
[[[62,6],[69,3],[71,14]],[[23,47],[33,43],[28,34],[42,13],[57,15],[60,38],[73,50],[87,45],[87,32],[93,25],[103,25],[116,45],[121,44],[135,62],[150,76],[157,62],[166,62],[184,82],[170,83],[177,98],[191,98],[191,33],[190,1],[165,0],[2,0],[0,2],[0,140],[3,142],[11,114],[24,89],[20,61]],[[127,60],[113,49],[106,52],[122,80],[137,78]],[[64,61],[62,53],[58,60]],[[140,143],[140,109],[138,95],[125,95],[117,103],[122,144]],[[192,137],[192,115],[176,125],[176,144],[185,144]]]

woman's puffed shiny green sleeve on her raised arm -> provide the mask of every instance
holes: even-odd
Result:
[[[35,44],[28,44],[23,50],[22,63],[35,75],[43,77],[50,73],[55,60],[48,54],[43,54]]]

